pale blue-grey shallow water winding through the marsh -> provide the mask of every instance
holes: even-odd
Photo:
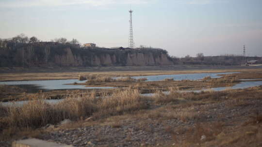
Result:
[[[234,72],[236,73],[236,72]],[[174,80],[200,80],[206,76],[211,76],[212,78],[219,78],[221,77],[218,74],[231,74],[231,73],[191,73],[191,74],[169,74],[169,75],[150,75],[150,76],[133,76],[132,78],[139,79],[139,78],[147,78],[147,81],[161,81],[165,78],[173,78]],[[248,79],[248,80],[260,80],[260,79]],[[113,88],[113,87],[85,87],[84,85],[66,85],[72,84],[74,82],[77,83],[84,83],[86,81],[79,81],[77,79],[69,79],[69,80],[40,80],[40,81],[8,81],[8,82],[0,82],[0,85],[37,85],[43,89],[85,89],[85,88]],[[232,87],[221,87],[221,88],[210,88],[214,91],[221,91],[227,88],[230,89],[238,89],[238,88],[250,88],[255,86],[262,85],[262,81],[245,81],[240,82]],[[210,89],[202,89],[202,90],[184,90],[181,92],[199,92],[205,91]],[[168,92],[167,92],[168,94]],[[144,96],[152,96],[152,93],[142,94]],[[49,103],[58,103],[62,100],[46,100]],[[17,101],[17,102],[5,102],[2,103],[3,105],[10,105],[10,104],[18,104],[21,105],[23,103],[27,103],[27,101]]]

